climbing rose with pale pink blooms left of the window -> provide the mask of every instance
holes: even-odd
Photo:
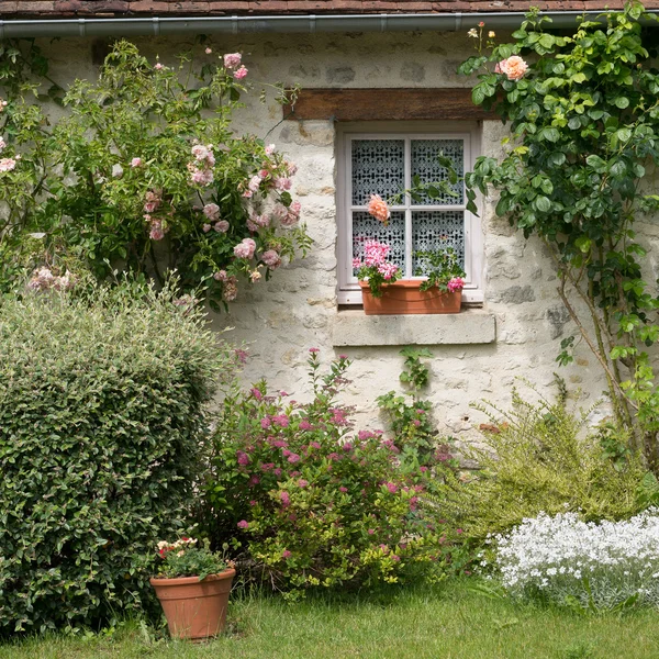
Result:
[[[0,52],[0,72],[19,71],[0,78],[2,288],[74,259],[101,279],[115,267],[158,281],[177,269],[183,289],[202,283],[217,306],[305,254],[295,165],[233,132],[248,90],[239,53],[206,48],[203,64],[188,54],[171,67],[118,42],[97,81],[69,87],[53,127],[24,71],[16,81],[24,57]]]

